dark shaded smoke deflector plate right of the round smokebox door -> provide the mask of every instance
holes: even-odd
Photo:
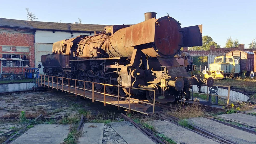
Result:
[[[183,47],[202,46],[203,25],[188,26],[183,30]]]

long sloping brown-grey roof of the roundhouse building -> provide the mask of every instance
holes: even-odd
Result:
[[[71,24],[71,23],[53,23],[28,20],[17,20],[0,18],[0,26],[15,28],[26,28],[35,30],[59,30],[59,31],[103,31],[105,26],[101,24]]]

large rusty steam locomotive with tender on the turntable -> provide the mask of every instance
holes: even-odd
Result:
[[[189,46],[202,46],[202,25],[181,28],[169,14],[156,19],[155,12],[148,12],[138,24],[107,26],[94,36],[56,42],[52,54],[41,56],[41,60],[46,75],[156,90],[157,102],[173,102],[183,96],[190,98],[192,85],[213,85],[212,78],[189,77],[177,62],[174,56],[181,47]],[[91,89],[92,83],[85,87]],[[102,91],[104,86],[95,84],[95,88]],[[110,94],[116,89],[106,86]],[[128,93],[128,88],[120,91]],[[150,102],[154,97],[152,91],[138,89],[131,89],[131,94],[146,94]]]

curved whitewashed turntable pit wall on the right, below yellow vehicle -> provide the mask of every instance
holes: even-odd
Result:
[[[199,93],[198,91],[199,91],[198,87],[196,85],[193,85],[193,93]],[[207,86],[201,86],[201,91],[205,92],[204,94],[207,94]],[[192,92],[192,89],[190,89],[190,92]],[[210,93],[210,91],[209,91],[209,93]],[[219,88],[218,95],[219,95],[219,97],[221,97],[221,96],[228,96],[228,90],[225,89],[225,88]],[[222,97],[222,98],[226,99],[227,97]],[[245,94],[240,93],[240,92],[230,91],[229,100],[230,101],[242,102],[242,101],[249,100],[249,97],[247,95],[245,95]]]

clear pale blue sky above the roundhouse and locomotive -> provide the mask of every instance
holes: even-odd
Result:
[[[203,35],[209,35],[221,47],[228,37],[239,43],[252,43],[256,37],[256,1],[246,0],[89,0],[89,1],[7,1],[0,0],[0,17],[27,20],[25,8],[37,21],[83,24],[136,24],[145,12],[157,12],[157,18],[170,16],[182,27],[203,24]]]

